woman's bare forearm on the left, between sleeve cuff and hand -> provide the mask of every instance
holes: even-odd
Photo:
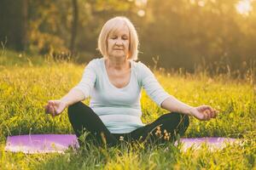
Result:
[[[62,102],[66,103],[66,106],[73,105],[84,99],[84,93],[79,89],[72,88],[68,94],[61,98]]]

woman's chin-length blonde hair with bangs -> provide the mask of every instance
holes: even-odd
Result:
[[[121,26],[127,26],[129,29],[130,42],[129,42],[129,52],[128,59],[137,60],[138,54],[138,37],[137,31],[131,20],[124,16],[117,16],[108,20],[104,26],[102,26],[102,31],[98,37],[98,49],[100,50],[103,57],[108,57],[108,35],[112,31],[118,31]]]

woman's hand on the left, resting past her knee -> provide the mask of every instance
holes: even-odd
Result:
[[[51,116],[58,116],[67,107],[66,103],[61,100],[49,100],[48,105],[44,106],[45,113]]]

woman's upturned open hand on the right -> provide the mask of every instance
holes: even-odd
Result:
[[[210,105],[200,105],[198,107],[193,107],[190,109],[190,115],[195,116],[195,118],[201,121],[208,121],[211,118],[215,118],[218,111],[213,110]]]

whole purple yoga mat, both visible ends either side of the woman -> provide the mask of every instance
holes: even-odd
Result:
[[[207,144],[210,150],[222,149],[227,143],[231,144],[238,139],[230,138],[195,138],[195,139],[180,139],[183,144],[182,150],[185,151],[190,147],[198,150],[202,144]],[[175,143],[177,145],[177,142]],[[5,150],[13,152],[23,152],[26,154],[34,153],[64,153],[68,146],[79,148],[79,143],[73,134],[29,134],[19,136],[9,136],[7,138]]]

